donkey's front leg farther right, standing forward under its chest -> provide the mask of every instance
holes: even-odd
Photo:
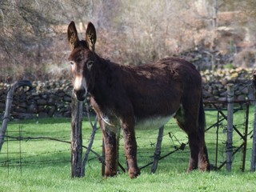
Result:
[[[134,119],[122,120],[122,132],[129,166],[129,175],[130,178],[136,178],[140,174],[140,170],[137,165],[137,143],[134,131]]]

